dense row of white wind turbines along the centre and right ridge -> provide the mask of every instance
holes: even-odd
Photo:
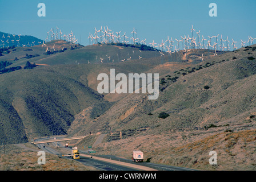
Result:
[[[195,31],[195,29],[193,28],[193,25],[191,27],[191,38],[189,35],[184,35],[183,37],[181,36],[181,40],[175,39],[177,42],[177,46],[175,46],[174,52],[179,51],[179,49],[214,49],[215,51],[230,51],[230,46],[229,46],[229,37],[227,36],[227,38],[224,40],[222,38],[221,35],[221,39],[219,39],[218,42],[218,36],[208,36],[208,40],[205,39],[202,35],[202,39],[200,39],[200,30],[197,32]],[[193,32],[197,33],[197,36],[194,37]],[[129,37],[126,36],[126,32],[124,32],[124,34],[122,36],[120,36],[121,31],[119,32],[115,32],[116,35],[114,34],[114,31],[110,30],[109,27],[103,27],[101,26],[101,28],[99,30],[97,30],[97,28],[95,27],[95,31],[94,31],[94,35],[91,34],[91,32],[89,33],[89,45],[91,45],[91,43],[93,44],[97,44],[97,43],[129,43]],[[100,34],[100,35],[99,35]],[[133,44],[138,44],[139,43],[139,38],[137,38],[137,32],[135,31],[135,28],[133,28],[133,31],[131,32],[131,34],[133,34],[133,36],[130,38],[131,41],[133,42]],[[135,37],[136,35],[136,37]],[[123,37],[123,39],[122,39]],[[212,43],[212,39],[215,38],[215,42]],[[248,36],[248,40],[247,41],[243,41],[241,39],[241,47],[245,46],[245,43],[249,43],[253,44],[253,40],[255,40],[256,38],[252,38],[251,36]],[[207,40],[207,44],[205,44],[205,41]],[[182,48],[181,48],[181,43],[182,43]],[[226,42],[226,43],[225,43]],[[142,44],[146,44],[146,39],[142,40],[140,43]],[[165,43],[167,43],[167,46],[165,47]],[[169,36],[167,37],[167,40],[165,40],[165,42],[162,40],[161,44],[157,44],[154,42],[150,43],[150,45],[155,48],[155,47],[160,47],[162,49],[162,52],[164,51],[164,49],[166,50],[166,52],[173,52],[173,45],[174,41],[173,38],[169,39]],[[218,44],[219,43],[219,44]],[[157,45],[155,45],[157,44]],[[235,40],[232,39],[232,43],[231,46],[233,46],[233,51],[237,49],[237,42]],[[174,53],[173,52],[173,53]]]

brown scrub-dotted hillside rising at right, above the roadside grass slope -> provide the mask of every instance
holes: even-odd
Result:
[[[234,56],[237,58],[233,59]],[[255,81],[256,63],[245,56],[247,52],[241,49],[236,53],[230,52],[218,58],[214,57],[203,62],[201,66],[172,72],[163,77],[166,83],[161,85],[164,89],[158,100],[147,100],[143,94],[129,94],[97,120],[99,123],[114,122],[119,130],[144,125],[154,127],[160,122],[161,127],[158,126],[157,131],[163,132],[193,129],[194,127],[203,128],[219,122],[223,124],[231,118],[241,119],[243,115],[239,114],[245,114],[246,111],[249,112],[255,108],[253,82]],[[179,78],[173,82],[176,76]],[[209,86],[209,89],[205,89],[205,86]],[[159,119],[158,114],[161,111],[170,114],[170,117],[164,120]],[[119,121],[117,118],[126,115],[126,112],[129,112],[127,114],[129,117],[119,119]],[[153,115],[147,115],[149,113]],[[121,125],[123,123],[127,125]],[[141,123],[141,126],[138,123]],[[111,128],[113,129],[113,126]],[[98,125],[97,129],[103,130]]]

